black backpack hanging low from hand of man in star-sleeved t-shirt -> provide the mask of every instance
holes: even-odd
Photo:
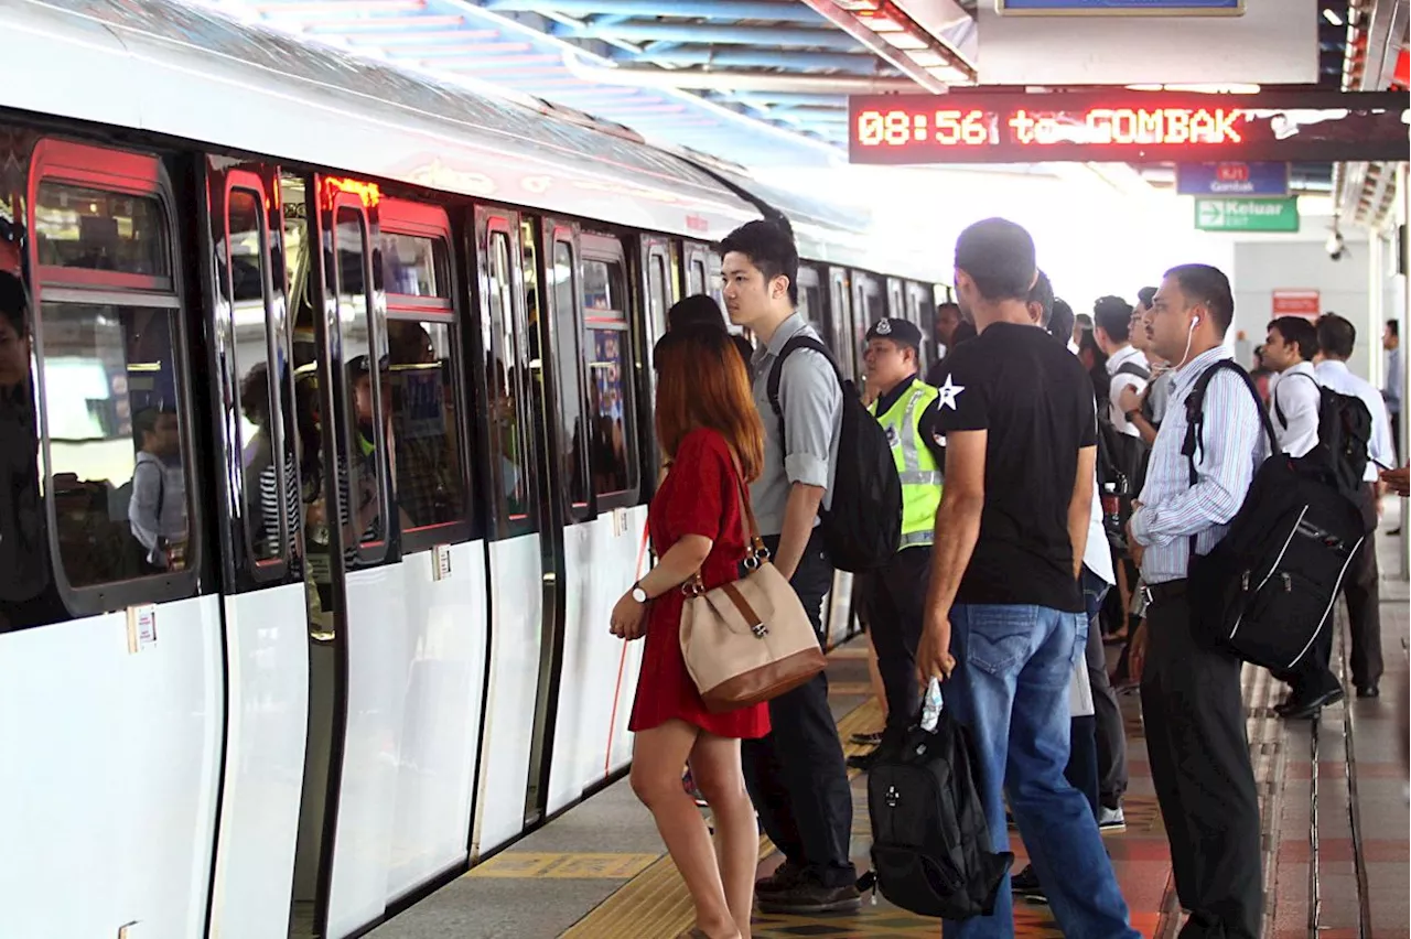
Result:
[[[943,708],[935,730],[913,726],[899,753],[868,773],[872,873],[858,887],[921,916],[991,915],[1015,856],[988,850],[969,730]]]

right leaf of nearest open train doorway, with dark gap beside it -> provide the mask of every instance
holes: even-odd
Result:
[[[281,190],[310,643],[291,933],[344,936],[385,909],[405,704],[405,675],[385,667],[406,656],[406,603],[389,501],[380,197],[371,183],[322,175],[285,176]]]

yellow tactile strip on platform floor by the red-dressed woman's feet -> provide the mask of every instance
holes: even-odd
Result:
[[[866,747],[848,743],[848,737],[862,730],[873,730],[882,725],[882,709],[876,699],[854,708],[838,722],[838,736],[844,749],[859,753]],[[775,846],[768,837],[759,839],[759,857],[773,854]],[[677,936],[696,922],[686,884],[672,863],[663,854],[656,863],[622,885],[587,916],[574,923],[563,939],[622,939],[624,936]],[[847,935],[847,933],[840,933]]]

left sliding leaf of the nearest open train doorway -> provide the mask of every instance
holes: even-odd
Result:
[[[309,704],[302,501],[284,223],[272,166],[210,158],[209,290],[230,663],[212,933],[279,935],[299,830]]]

